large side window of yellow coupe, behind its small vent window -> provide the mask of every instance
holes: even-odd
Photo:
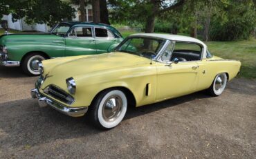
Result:
[[[198,61],[201,59],[202,48],[198,44],[176,41],[171,60],[180,62]]]

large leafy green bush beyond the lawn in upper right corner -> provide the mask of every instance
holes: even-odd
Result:
[[[215,41],[248,39],[255,28],[256,12],[253,3],[232,2],[224,9],[225,14],[212,21],[210,39]]]

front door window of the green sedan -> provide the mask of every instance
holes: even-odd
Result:
[[[69,32],[68,37],[93,37],[91,28],[89,27],[75,27]]]

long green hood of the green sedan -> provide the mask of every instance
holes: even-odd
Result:
[[[51,35],[49,33],[37,34],[10,34],[0,36],[0,45],[11,44],[31,44],[31,43],[48,43],[55,40],[61,40],[63,37]]]

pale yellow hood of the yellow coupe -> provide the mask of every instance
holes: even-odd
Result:
[[[141,64],[150,64],[150,59],[129,53],[104,53],[100,55],[86,55],[50,59],[43,62],[44,76],[66,79],[81,75],[105,73],[117,68],[125,68]]]

